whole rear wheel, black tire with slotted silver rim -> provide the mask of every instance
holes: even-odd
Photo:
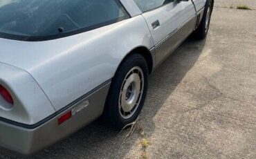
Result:
[[[111,82],[105,113],[117,130],[134,122],[147,94],[148,68],[142,55],[127,57]]]

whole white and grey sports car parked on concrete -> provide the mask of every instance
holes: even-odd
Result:
[[[30,154],[101,115],[120,130],[148,75],[192,33],[213,0],[1,0],[0,146]]]

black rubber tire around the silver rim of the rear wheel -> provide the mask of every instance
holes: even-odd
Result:
[[[129,73],[129,71],[133,70],[134,68],[140,68],[140,72],[142,71],[144,74],[143,86],[141,86],[143,82],[140,82],[140,88],[143,89],[143,93],[140,94],[140,102],[139,104],[136,104],[136,110],[134,111],[133,115],[131,115],[129,118],[123,118],[123,114],[121,113],[122,110],[120,110],[120,98],[122,98],[120,95],[122,94],[121,89],[124,88],[123,85],[125,84],[125,78],[129,77],[127,73]],[[132,73],[131,75],[134,74]],[[140,75],[140,77],[142,77],[142,75]],[[147,95],[147,84],[148,67],[145,58],[142,55],[136,53],[125,58],[122,64],[119,66],[116,75],[112,79],[104,109],[104,118],[107,118],[114,129],[120,131],[122,128],[131,122],[134,122],[138,118],[138,115],[143,108],[145,97]],[[127,95],[127,93],[125,93],[125,95]]]

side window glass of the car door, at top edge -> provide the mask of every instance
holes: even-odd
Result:
[[[164,6],[165,4],[171,3],[173,1],[175,0],[134,0],[142,12],[154,10],[155,8]]]

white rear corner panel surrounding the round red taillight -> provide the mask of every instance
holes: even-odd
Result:
[[[8,89],[14,100],[12,109],[0,102],[0,118],[22,124],[35,124],[55,113],[37,82],[26,71],[0,62],[0,84]]]

